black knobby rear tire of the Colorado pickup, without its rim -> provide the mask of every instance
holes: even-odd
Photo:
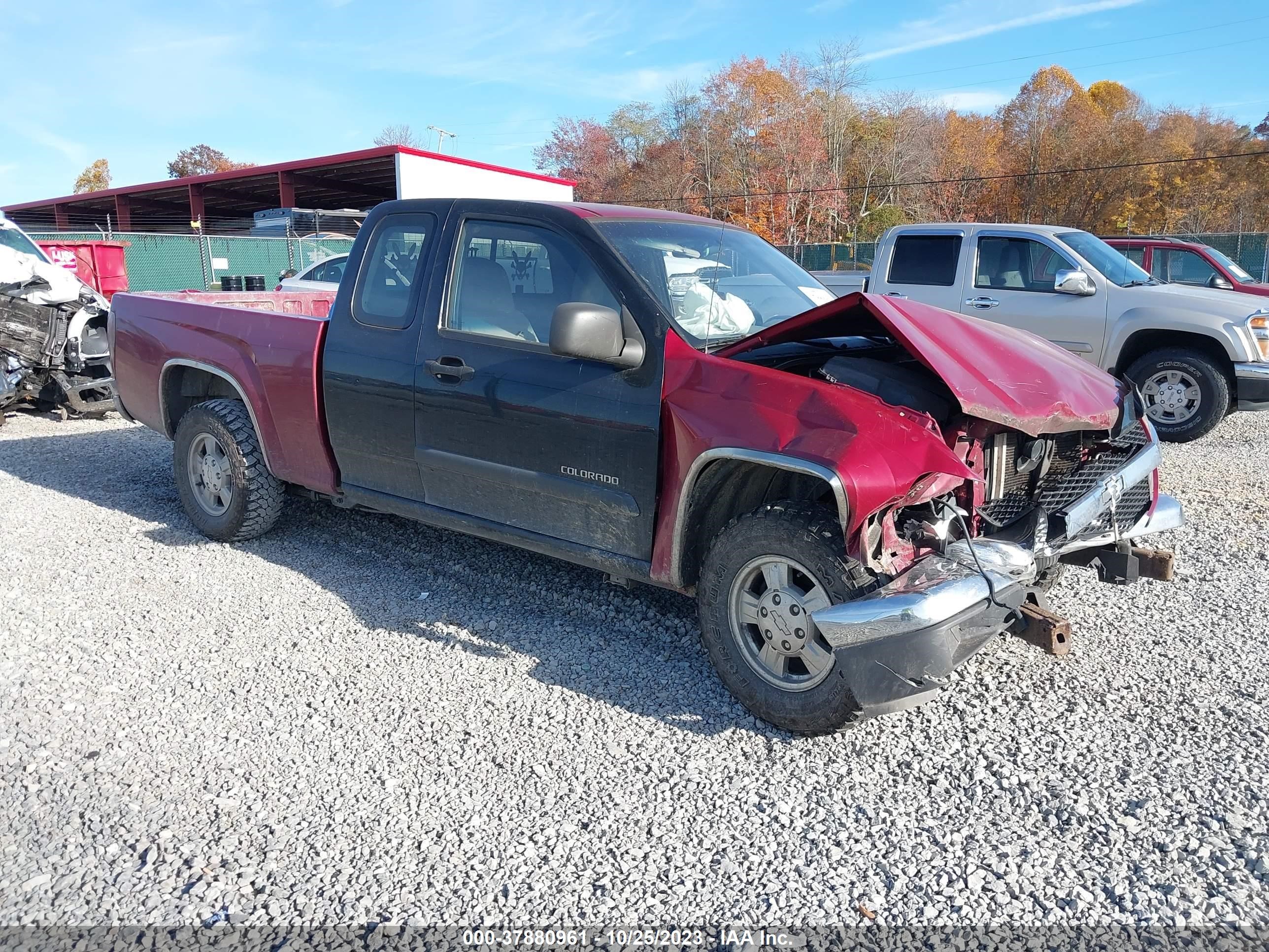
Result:
[[[189,444],[199,434],[209,434],[225,448],[230,461],[233,495],[221,515],[207,513],[194,499],[190,485]],[[286,484],[269,472],[260,451],[260,439],[241,400],[208,400],[192,406],[176,426],[173,475],[181,505],[194,527],[220,542],[242,542],[263,536],[278,520],[286,496]]]

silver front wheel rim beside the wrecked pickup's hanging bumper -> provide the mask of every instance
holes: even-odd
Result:
[[[727,614],[755,674],[782,691],[807,691],[832,670],[832,649],[811,621],[811,612],[830,604],[829,593],[805,566],[769,555],[736,572]]]

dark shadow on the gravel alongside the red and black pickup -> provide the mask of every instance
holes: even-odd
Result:
[[[157,523],[145,534],[161,545],[227,545],[194,531],[171,444],[141,426],[3,440],[0,472]],[[675,729],[789,736],[731,698],[700,647],[694,602],[673,592],[624,590],[547,556],[298,498],[269,534],[233,548],[301,572],[367,628],[482,656],[530,655],[539,682]]]

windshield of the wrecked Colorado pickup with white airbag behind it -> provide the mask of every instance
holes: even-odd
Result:
[[[746,336],[834,294],[758,235],[692,221],[593,221],[688,343]]]

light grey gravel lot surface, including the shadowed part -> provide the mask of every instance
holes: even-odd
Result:
[[[156,434],[10,415],[0,925],[1264,928],[1269,418],[1164,457],[1176,584],[794,739],[688,599],[299,500],[207,542]]]

